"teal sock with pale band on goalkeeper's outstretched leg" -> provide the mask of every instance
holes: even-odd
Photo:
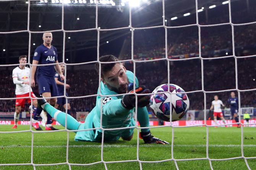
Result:
[[[50,116],[52,116],[57,122],[59,122],[63,127],[65,127],[65,119],[66,119],[66,113],[63,113],[62,111],[57,110],[53,106],[51,106],[49,103],[45,103],[42,105],[42,108],[44,108],[45,111],[47,111]],[[67,129],[68,130],[78,130],[78,127],[81,123],[79,123],[75,118],[67,115]]]

